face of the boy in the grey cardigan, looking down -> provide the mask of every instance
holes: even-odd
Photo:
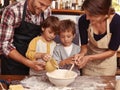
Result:
[[[71,31],[60,32],[60,40],[64,46],[70,46],[75,35]]]

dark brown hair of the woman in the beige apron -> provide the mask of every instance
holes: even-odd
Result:
[[[87,10],[91,15],[110,15],[115,12],[111,4],[112,0],[85,0],[82,9]]]

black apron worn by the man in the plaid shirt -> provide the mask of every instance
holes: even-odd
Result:
[[[27,51],[29,42],[40,35],[41,27],[40,25],[35,25],[29,22],[24,21],[26,15],[26,8],[27,8],[27,0],[24,4],[23,10],[23,18],[20,26],[15,28],[15,33],[13,37],[13,44],[16,47],[17,51],[25,56]],[[28,75],[29,68],[25,65],[16,62],[15,60],[2,56],[2,74],[9,74],[9,75]]]

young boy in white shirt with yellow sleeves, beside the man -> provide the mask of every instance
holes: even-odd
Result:
[[[48,61],[51,58],[54,47],[56,46],[56,43],[53,40],[59,30],[58,27],[59,19],[57,17],[49,16],[46,20],[44,20],[41,25],[42,34],[41,36],[35,37],[30,42],[28,50],[26,52],[26,57],[33,61],[39,60],[45,65],[46,61]],[[43,72],[36,72],[35,70],[30,69],[29,74],[39,75]]]

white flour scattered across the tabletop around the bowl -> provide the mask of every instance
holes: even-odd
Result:
[[[25,90],[104,90],[107,84],[102,82],[101,77],[79,76],[68,87],[56,87],[49,82],[46,76],[31,76],[23,79],[21,84],[23,87],[27,87]]]

